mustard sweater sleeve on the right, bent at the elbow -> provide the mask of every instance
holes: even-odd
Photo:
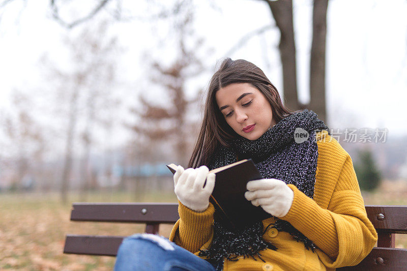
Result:
[[[327,209],[294,185],[292,207],[285,217],[318,247],[317,254],[329,268],[358,264],[369,254],[377,233],[367,218],[351,157],[346,154]]]

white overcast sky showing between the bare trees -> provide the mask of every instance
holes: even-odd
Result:
[[[212,69],[216,61],[226,56],[243,35],[274,24],[268,6],[262,1],[213,2],[216,4],[195,2],[195,32],[206,39],[208,47],[214,49],[212,55],[205,56],[205,63]],[[38,64],[44,54],[50,55],[57,63],[69,66],[63,39],[76,35],[86,23],[67,31],[50,18],[48,3],[47,0],[28,0],[24,7],[23,1],[15,1],[3,12],[0,22],[2,110],[12,110],[9,97],[13,89],[23,89],[32,94],[38,92],[41,95],[40,89],[47,88],[47,78]],[[302,102],[307,102],[312,5],[311,1],[294,1],[294,4],[297,57],[300,64],[299,96]],[[142,15],[148,12],[149,7],[140,8],[137,4],[132,8],[135,13]],[[69,16],[69,12],[67,14]],[[407,114],[404,111],[407,102],[406,14],[405,0],[330,0],[327,107],[329,124],[334,128],[386,127],[389,136],[407,134]],[[101,14],[95,20],[105,15]],[[152,33],[152,27],[157,32]],[[119,68],[123,82],[129,86],[145,87],[148,84],[142,81],[145,67],[141,55],[149,48],[154,57],[169,61],[174,48],[165,42],[158,45],[157,41],[160,33],[165,33],[164,28],[165,24],[157,22],[152,26],[137,19],[111,23],[111,34],[118,36],[125,49]],[[259,66],[282,93],[278,42],[279,32],[273,27],[227,56],[232,59],[243,58]],[[207,86],[210,76],[209,72],[194,84],[197,84],[196,87]],[[125,140],[126,137],[121,138]]]

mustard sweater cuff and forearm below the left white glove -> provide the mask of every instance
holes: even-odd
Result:
[[[172,227],[169,240],[197,255],[212,242],[215,208],[209,203],[204,212],[198,213],[178,201],[178,213],[180,219]]]

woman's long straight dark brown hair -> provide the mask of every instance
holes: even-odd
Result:
[[[235,83],[250,83],[263,93],[271,105],[276,123],[292,114],[292,111],[284,107],[276,87],[260,68],[243,59],[233,61],[227,57],[209,83],[205,114],[188,167],[207,165],[220,145],[229,146],[228,140],[238,136],[226,123],[215,99],[220,88]]]

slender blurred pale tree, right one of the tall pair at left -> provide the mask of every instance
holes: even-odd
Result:
[[[91,33],[94,32],[94,33]],[[105,37],[101,39],[100,37]],[[79,39],[84,41],[83,54],[87,54],[89,59],[88,82],[84,93],[84,129],[81,134],[83,155],[80,169],[81,176],[81,200],[85,200],[85,193],[89,190],[91,172],[90,155],[92,144],[94,143],[93,131],[96,125],[103,125],[104,128],[111,127],[111,119],[104,119],[101,111],[112,109],[118,106],[117,100],[112,95],[112,87],[115,81],[115,57],[117,54],[117,39],[107,37],[107,24],[102,23],[96,31],[86,29]],[[84,55],[83,55],[84,56]],[[82,59],[83,56],[78,57]],[[108,115],[108,114],[106,114]]]

